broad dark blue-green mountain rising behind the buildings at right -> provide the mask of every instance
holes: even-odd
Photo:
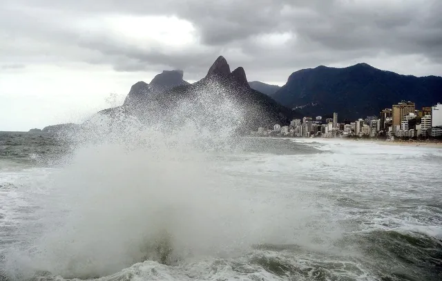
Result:
[[[441,101],[442,77],[414,77],[379,70],[368,64],[347,68],[318,66],[292,73],[273,99],[303,115],[338,113],[340,120],[378,115],[399,101],[416,108]]]

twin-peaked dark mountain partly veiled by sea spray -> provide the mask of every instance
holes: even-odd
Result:
[[[233,108],[240,108],[237,110],[243,117],[238,130],[240,133],[257,130],[258,126],[288,124],[293,117],[300,117],[294,110],[253,90],[244,69],[239,67],[231,72],[222,56],[215,60],[207,75],[194,84],[182,83],[155,92],[154,81],[151,84],[137,82],[126,97],[123,108],[109,108],[101,113],[113,115],[123,109],[146,122],[172,124],[179,111],[181,119],[193,119],[210,127],[225,117],[231,117]],[[158,121],[160,116],[161,121]]]

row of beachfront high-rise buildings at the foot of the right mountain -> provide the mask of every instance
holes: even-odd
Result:
[[[401,101],[392,108],[381,110],[379,116],[369,116],[354,122],[338,122],[321,116],[293,119],[287,126],[275,124],[273,128],[258,128],[253,135],[291,137],[442,137],[442,104],[416,110],[412,101]]]

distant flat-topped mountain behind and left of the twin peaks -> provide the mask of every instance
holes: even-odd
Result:
[[[182,79],[183,75],[184,72],[182,70],[163,70],[162,73],[153,77],[151,84],[139,81],[132,86],[129,94],[124,100],[124,104],[135,104],[153,93],[160,93],[176,86],[189,84]]]

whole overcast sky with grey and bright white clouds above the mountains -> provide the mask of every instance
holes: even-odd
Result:
[[[365,62],[442,76],[440,0],[0,0],[0,130],[83,122],[219,55],[249,81]]]

